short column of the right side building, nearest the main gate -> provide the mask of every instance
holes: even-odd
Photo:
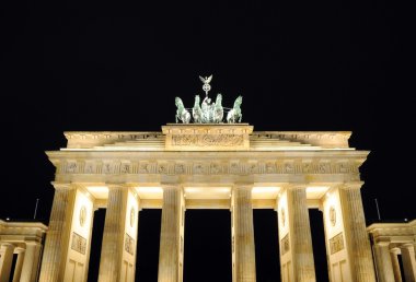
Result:
[[[394,282],[392,259],[389,251],[390,242],[377,242],[373,245],[379,282]]]

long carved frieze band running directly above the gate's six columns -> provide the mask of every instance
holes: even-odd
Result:
[[[327,160],[292,161],[67,161],[59,174],[166,174],[166,175],[255,175],[255,174],[350,174],[359,178],[358,163]]]

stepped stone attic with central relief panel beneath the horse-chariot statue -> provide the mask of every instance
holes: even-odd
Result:
[[[354,150],[348,131],[253,131],[249,124],[167,124],[159,132],[71,131],[63,151]]]

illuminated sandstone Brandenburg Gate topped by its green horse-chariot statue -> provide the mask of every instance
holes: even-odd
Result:
[[[142,209],[162,209],[159,282],[183,281],[189,209],[230,210],[233,282],[256,281],[253,209],[274,209],[281,281],[315,281],[308,209],[316,208],[331,281],[375,281],[360,195],[368,152],[349,148],[350,132],[255,132],[241,124],[241,96],[223,124],[211,78],[200,78],[206,97],[192,115],[176,97],[176,124],[161,132],[66,132],[67,148],[47,152],[55,198],[39,281],[86,281],[99,208],[101,282],[135,280]]]

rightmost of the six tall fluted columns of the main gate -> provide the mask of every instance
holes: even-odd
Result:
[[[369,282],[375,281],[375,273],[360,188],[361,183],[344,185],[339,188],[339,198],[353,281]]]

